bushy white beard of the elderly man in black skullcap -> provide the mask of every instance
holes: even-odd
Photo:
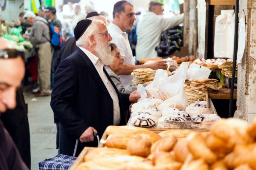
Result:
[[[111,56],[111,48],[109,46],[110,42],[105,44],[102,40],[98,39],[99,43],[95,46],[94,50],[99,57],[99,60],[104,65],[110,65],[113,62],[113,57]]]

